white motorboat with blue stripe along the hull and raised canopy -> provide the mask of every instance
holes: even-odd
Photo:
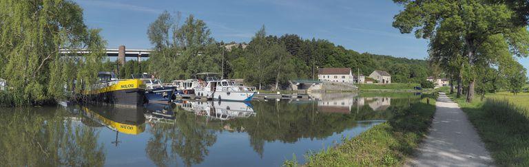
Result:
[[[214,100],[250,101],[256,91],[251,87],[236,85],[233,80],[220,79],[215,73],[196,74],[199,87],[195,87],[197,98]]]

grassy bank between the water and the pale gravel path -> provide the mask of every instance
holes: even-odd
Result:
[[[422,141],[435,113],[435,100],[430,104],[426,98],[412,104],[410,108],[393,111],[388,122],[342,144],[320,153],[308,155],[306,166],[398,166]],[[295,160],[284,162],[285,166],[297,166]]]

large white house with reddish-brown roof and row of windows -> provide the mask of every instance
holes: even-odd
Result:
[[[318,80],[330,82],[354,82],[350,68],[321,68],[318,69]]]

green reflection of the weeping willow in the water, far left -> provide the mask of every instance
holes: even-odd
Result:
[[[98,131],[62,108],[0,109],[0,162],[5,166],[103,166]],[[14,111],[13,111],[14,110]]]

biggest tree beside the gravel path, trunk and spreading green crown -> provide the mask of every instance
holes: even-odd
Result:
[[[494,58],[479,52],[486,42],[506,43],[506,46],[494,45],[496,50],[509,51],[510,55],[527,56],[529,34],[526,25],[519,24],[520,17],[505,3],[492,0],[393,0],[404,5],[404,10],[395,16],[393,27],[402,33],[415,31],[417,38],[450,38],[461,43],[453,56],[461,53],[464,60],[461,67],[466,71],[466,101],[474,98],[476,68],[480,65],[495,63],[477,63]],[[499,47],[501,46],[501,47]],[[441,48],[442,49],[442,48]],[[511,56],[512,57],[512,56]],[[495,61],[495,60],[492,60]]]

